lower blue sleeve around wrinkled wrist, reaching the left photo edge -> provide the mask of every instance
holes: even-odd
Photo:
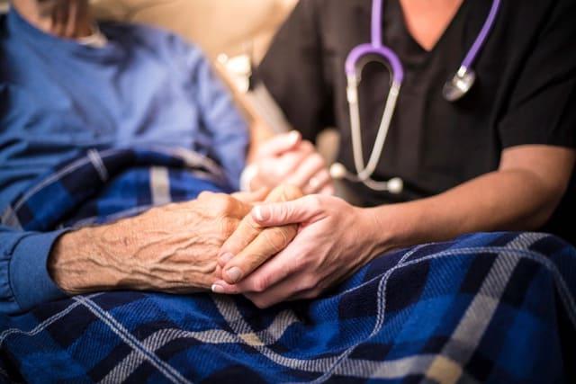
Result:
[[[47,268],[52,246],[62,233],[23,232],[0,226],[0,313],[14,315],[66,297]]]

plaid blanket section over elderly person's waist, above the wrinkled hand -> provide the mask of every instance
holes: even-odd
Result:
[[[193,151],[89,150],[43,176],[2,215],[7,227],[49,231],[133,216],[152,206],[230,192],[219,165]]]

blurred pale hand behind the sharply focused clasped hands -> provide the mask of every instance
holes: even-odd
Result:
[[[253,166],[256,167],[250,182],[253,191],[290,184],[301,188],[304,194],[334,194],[326,162],[297,131],[277,135],[261,145]]]

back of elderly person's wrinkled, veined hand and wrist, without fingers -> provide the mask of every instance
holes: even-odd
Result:
[[[236,197],[250,200],[246,195]],[[169,204],[135,218],[69,232],[52,250],[49,272],[70,294],[117,289],[170,293],[209,289],[220,278],[220,247],[252,208],[238,199],[203,192],[195,201]]]

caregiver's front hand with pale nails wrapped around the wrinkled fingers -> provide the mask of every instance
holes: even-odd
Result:
[[[263,228],[298,225],[293,241],[275,256],[279,250],[270,250],[266,263],[259,252],[251,253],[258,262],[250,261],[248,246],[237,249],[236,255],[241,257],[220,260],[223,280],[216,281],[212,290],[244,294],[259,308],[285,300],[316,298],[391,249],[386,228],[379,224],[374,211],[353,207],[336,197],[311,195],[264,204],[252,210],[251,219]],[[240,235],[235,232],[224,247],[231,252],[234,245],[241,244]]]

